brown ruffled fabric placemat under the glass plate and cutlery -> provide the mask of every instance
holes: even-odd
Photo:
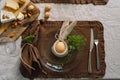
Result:
[[[49,46],[48,41],[53,38],[52,36],[46,34],[47,32],[52,31],[58,31],[62,25],[62,21],[49,21],[45,24],[41,25],[40,28],[40,37],[37,44],[38,50],[40,52],[40,55],[44,54],[40,46],[45,47]],[[44,29],[42,29],[44,28]],[[97,71],[96,69],[96,53],[95,53],[95,47],[93,48],[92,52],[92,74],[88,74],[87,70],[87,64],[88,64],[88,52],[89,52],[89,45],[90,45],[90,28],[93,28],[94,31],[98,31],[98,38],[99,38],[99,57],[100,57],[100,70]],[[42,31],[44,30],[44,31]],[[47,72],[47,75],[41,73],[39,69],[32,72],[32,75],[28,75],[26,70],[23,66],[20,67],[21,73],[24,77],[29,77],[31,79],[33,78],[98,78],[103,77],[105,75],[105,50],[104,50],[104,29],[100,22],[98,21],[79,21],[77,24],[77,27],[74,29],[78,34],[82,34],[87,39],[86,47],[84,49],[84,53],[82,56],[82,61],[80,64],[75,67],[74,69],[68,71],[68,72],[54,72],[46,67],[44,69]],[[43,33],[45,32],[45,33]],[[44,34],[44,35],[43,35]],[[46,35],[45,35],[46,34]],[[46,51],[50,49],[46,48]],[[40,58],[43,58],[44,56],[41,56]],[[77,62],[76,62],[77,63]],[[72,65],[70,65],[72,66]]]

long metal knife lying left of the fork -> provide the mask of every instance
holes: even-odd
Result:
[[[93,28],[91,28],[90,31],[90,48],[89,48],[89,57],[88,57],[88,73],[92,73],[92,67],[91,67],[91,53],[94,47],[94,33],[93,33]]]

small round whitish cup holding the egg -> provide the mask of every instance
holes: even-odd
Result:
[[[57,44],[58,42],[60,42],[60,40],[57,40],[57,41],[53,44],[53,46],[52,46],[52,52],[53,52],[53,54],[54,54],[55,56],[57,56],[57,57],[64,57],[64,56],[66,56],[66,55],[68,54],[68,45],[67,45],[67,43],[66,43],[65,41],[62,41],[62,42],[65,44],[65,51],[62,52],[62,53],[58,53],[58,52],[56,51],[56,49],[55,49],[56,44]]]

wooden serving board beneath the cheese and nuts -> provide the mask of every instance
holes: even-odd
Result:
[[[32,2],[29,2],[29,4],[26,7],[24,7],[24,9],[26,9],[29,5],[35,6]],[[35,6],[33,15],[30,18],[26,18],[22,20],[22,24],[18,25],[16,28],[11,27],[10,25],[11,22],[6,24],[1,24],[0,37],[9,37],[11,34],[15,34],[15,36],[11,37],[11,39],[16,40],[27,29],[28,27],[27,25],[29,25],[32,21],[34,21],[39,16],[39,14],[40,14],[40,10],[38,7]],[[8,40],[3,40],[3,41],[7,42]]]

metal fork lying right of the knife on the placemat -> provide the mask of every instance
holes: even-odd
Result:
[[[97,70],[100,70],[100,61],[99,61],[99,51],[98,51],[98,44],[99,44],[99,40],[98,40],[98,33],[95,32],[94,33],[94,44],[95,44],[95,49],[96,49],[96,68]]]

